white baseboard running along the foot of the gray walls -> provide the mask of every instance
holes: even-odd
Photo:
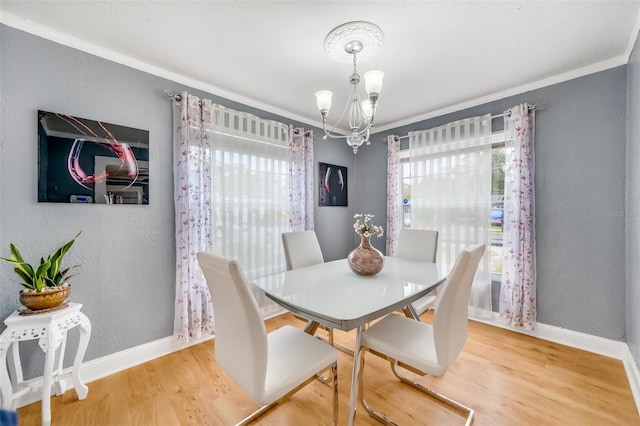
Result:
[[[474,318],[473,320],[621,360],[629,379],[629,386],[631,387],[638,413],[640,414],[640,371],[626,343],[540,323],[536,324],[535,330],[533,331],[521,330],[500,323],[495,313],[486,316],[486,319]],[[111,374],[210,339],[212,339],[212,337],[191,341],[187,344],[179,344],[173,336],[165,337],[115,354],[87,361],[82,364],[80,377],[84,383],[91,383]],[[71,368],[68,368],[64,370],[63,373],[70,374],[70,371]],[[27,384],[31,382],[33,382],[33,387],[35,388],[38,383],[42,382],[42,378],[32,379],[28,381]],[[69,386],[67,386],[68,384],[66,380],[61,383],[63,387],[62,392],[69,388]],[[91,391],[91,388],[89,388],[89,391]],[[16,406],[23,407],[39,401],[41,396],[40,392],[32,392],[24,395],[18,400]]]

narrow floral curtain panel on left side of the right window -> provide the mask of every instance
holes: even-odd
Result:
[[[387,136],[387,247],[394,256],[402,228],[402,187],[400,184],[400,138]]]

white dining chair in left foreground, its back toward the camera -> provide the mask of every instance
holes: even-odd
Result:
[[[267,334],[238,262],[207,252],[197,258],[213,301],[216,362],[262,404],[238,424],[256,420],[327,368],[333,381],[333,424],[337,424],[336,349],[289,325]]]

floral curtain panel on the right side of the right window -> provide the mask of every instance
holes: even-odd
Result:
[[[535,111],[513,107],[505,116],[505,200],[500,319],[532,330],[536,321],[536,262],[534,240]]]

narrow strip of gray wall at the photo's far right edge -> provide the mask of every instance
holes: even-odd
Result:
[[[640,365],[640,40],[627,65],[627,343]]]

